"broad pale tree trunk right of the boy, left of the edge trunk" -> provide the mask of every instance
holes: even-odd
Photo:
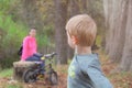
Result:
[[[107,21],[106,52],[112,62],[120,62],[125,40],[127,9],[125,0],[103,0]]]

